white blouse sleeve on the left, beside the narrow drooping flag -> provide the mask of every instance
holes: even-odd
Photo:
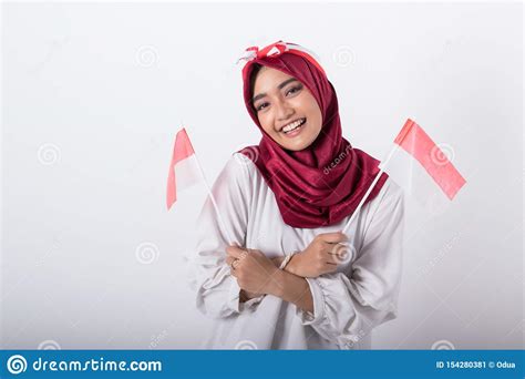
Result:
[[[226,264],[228,245],[245,246],[251,191],[247,162],[234,154],[212,188],[220,217],[208,196],[197,218],[192,287],[197,308],[212,318],[238,314],[262,299],[239,303],[240,288]]]

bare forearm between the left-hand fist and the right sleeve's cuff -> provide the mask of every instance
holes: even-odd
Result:
[[[313,299],[308,281],[281,269],[271,277],[268,294],[295,304],[298,308],[313,313]]]

